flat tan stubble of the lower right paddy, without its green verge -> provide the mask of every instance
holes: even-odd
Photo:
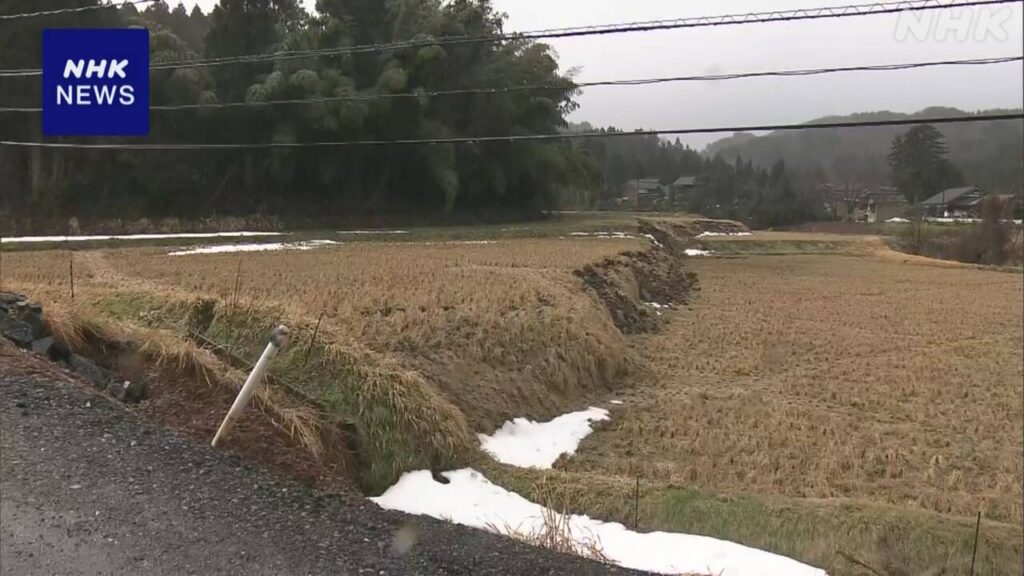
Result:
[[[701,300],[573,469],[1020,525],[1022,279],[850,256],[701,259]]]

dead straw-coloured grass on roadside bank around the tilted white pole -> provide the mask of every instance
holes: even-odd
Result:
[[[48,306],[44,324],[54,338],[93,359],[118,381],[151,382],[148,401],[138,410],[201,442],[212,438],[245,378],[244,372],[173,332],[117,322],[82,302]],[[0,362],[16,354],[26,356],[22,364],[47,364],[26,353]],[[228,448],[290,476],[350,489],[353,465],[345,437],[327,429],[322,412],[273,386],[258,390],[254,404]]]

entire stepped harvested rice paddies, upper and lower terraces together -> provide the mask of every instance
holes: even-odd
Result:
[[[271,375],[315,401],[314,427],[347,430],[346,474],[367,493],[477,462],[595,518],[876,576],[967,573],[981,512],[977,573],[1021,573],[1019,270],[873,236],[685,237],[681,220],[711,255],[677,260],[699,292],[665,310],[651,284],[676,277],[630,268],[652,242],[602,218],[181,256],[23,247],[2,254],[0,284],[55,325],[186,348],[200,331],[221,352],[188,358],[211,366],[244,364],[287,323],[295,341]],[[657,323],[624,330],[608,290]],[[587,406],[611,417],[554,470],[481,461],[477,433]]]

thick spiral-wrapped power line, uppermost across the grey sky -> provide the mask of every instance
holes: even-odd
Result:
[[[994,4],[1020,3],[1022,0],[905,0],[900,2],[876,2],[870,4],[850,4],[845,6],[823,6],[818,8],[802,8],[794,10],[773,10],[769,12],[748,12],[739,14],[723,14],[716,16],[694,16],[675,19],[646,20],[626,24],[599,25],[589,27],[552,28],[518,33],[499,34],[493,36],[447,36],[442,38],[422,38],[401,42],[361,44],[356,46],[341,46],[335,48],[319,48],[312,50],[285,50],[259,54],[244,54],[238,56],[222,56],[201,58],[195,60],[172,60],[152,66],[150,70],[171,70],[178,68],[205,68],[232,64],[255,64],[266,61],[282,61],[317,56],[332,56],[364,52],[379,52],[417,48],[426,46],[449,46],[464,44],[479,44],[501,42],[505,40],[541,40],[552,38],[571,38],[580,36],[603,36],[608,34],[625,34],[637,32],[653,32],[658,30],[679,30],[687,28],[705,28],[720,26],[736,26],[748,24],[767,24],[776,22],[794,22],[807,19],[840,18],[850,16],[866,16],[892,14],[899,12],[916,12],[942,8],[964,8],[971,6],[986,6]],[[39,69],[0,70],[2,76],[39,76]]]

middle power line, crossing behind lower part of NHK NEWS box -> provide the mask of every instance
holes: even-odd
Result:
[[[893,72],[893,71],[913,70],[913,69],[932,68],[940,66],[984,66],[984,65],[1006,64],[1013,61],[1024,61],[1024,55],[995,56],[988,58],[966,58],[966,59],[954,59],[954,60],[933,60],[933,61],[923,61],[923,63],[850,66],[850,67],[840,67],[840,68],[773,70],[773,71],[763,71],[763,72],[712,74],[712,75],[700,75],[700,76],[641,78],[633,80],[599,80],[594,82],[575,82],[569,84],[528,84],[521,86],[501,86],[494,88],[459,88],[453,90],[398,92],[393,94],[364,94],[364,95],[323,96],[313,98],[292,98],[292,99],[278,99],[278,100],[263,100],[263,101],[167,105],[167,106],[153,106],[150,107],[150,110],[173,111],[173,110],[223,109],[223,108],[259,108],[259,107],[278,106],[278,105],[310,105],[310,104],[326,104],[334,101],[373,101],[373,100],[395,99],[395,98],[420,98],[420,97],[451,96],[451,95],[461,95],[461,94],[502,94],[502,93],[532,92],[532,91],[544,91],[544,90],[574,90],[579,88],[590,88],[595,86],[646,86],[651,84],[664,84],[673,82],[717,82],[717,81],[739,80],[739,79],[751,79],[751,78],[817,76],[823,74],[838,74],[847,72]],[[42,110],[43,110],[42,108],[38,107],[36,108],[0,107],[0,113],[3,112],[38,113],[41,112]]]

